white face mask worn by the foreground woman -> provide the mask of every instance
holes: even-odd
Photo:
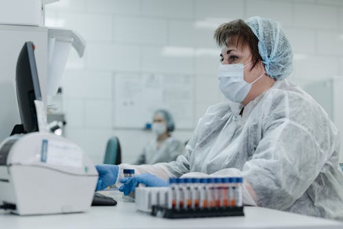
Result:
[[[252,84],[261,79],[263,73],[252,83],[244,81],[244,64],[220,64],[218,78],[220,91],[226,98],[241,103],[248,95]]]

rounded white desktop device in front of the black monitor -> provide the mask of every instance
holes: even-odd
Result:
[[[0,202],[18,215],[84,212],[97,171],[82,149],[55,134],[32,132],[0,145]]]

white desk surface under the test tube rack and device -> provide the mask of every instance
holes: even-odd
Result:
[[[110,192],[104,192],[110,193]],[[164,219],[136,210],[113,191],[117,206],[93,206],[86,213],[18,216],[0,210],[0,228],[343,228],[343,222],[307,217],[259,207],[245,207],[244,217]]]

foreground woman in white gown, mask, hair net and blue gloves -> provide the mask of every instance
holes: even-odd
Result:
[[[343,219],[340,138],[327,113],[285,79],[292,49],[278,23],[252,17],[220,25],[220,90],[176,161],[155,165],[97,165],[97,190],[116,182],[125,194],[137,182],[167,185],[180,176],[242,176],[244,204]],[[121,179],[123,168],[135,178]],[[121,182],[120,182],[121,181]]]

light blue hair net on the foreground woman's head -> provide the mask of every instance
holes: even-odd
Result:
[[[266,73],[276,80],[285,79],[292,72],[293,52],[279,23],[253,16],[246,24],[259,39],[259,54]]]

